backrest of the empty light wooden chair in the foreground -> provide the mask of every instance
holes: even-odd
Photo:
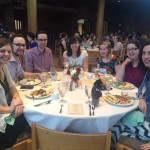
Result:
[[[77,134],[32,124],[32,150],[109,150],[110,142],[110,131],[104,134]]]

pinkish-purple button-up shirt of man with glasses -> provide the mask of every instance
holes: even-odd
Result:
[[[52,51],[45,47],[43,52],[34,47],[25,53],[25,70],[27,72],[48,72],[53,66]]]

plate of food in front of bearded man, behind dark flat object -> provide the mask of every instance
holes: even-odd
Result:
[[[39,79],[23,79],[18,82],[20,85],[38,85],[41,83]]]

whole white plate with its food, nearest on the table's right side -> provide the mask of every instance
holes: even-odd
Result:
[[[108,94],[106,96],[106,101],[117,106],[130,106],[134,104],[133,99],[129,99],[128,97],[124,97],[121,95]]]

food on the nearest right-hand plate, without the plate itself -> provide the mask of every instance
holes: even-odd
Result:
[[[131,100],[121,95],[107,94],[106,99],[115,104],[129,104]]]

